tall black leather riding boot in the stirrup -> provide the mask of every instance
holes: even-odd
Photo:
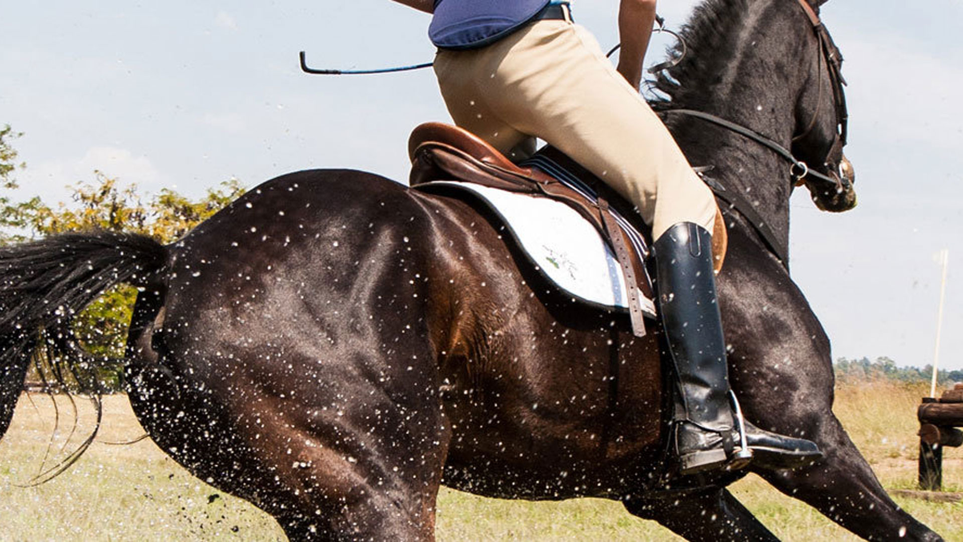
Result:
[[[765,431],[733,415],[725,340],[716,304],[712,236],[691,222],[670,227],[653,245],[659,308],[677,378],[674,444],[680,474],[750,458],[762,467],[791,469],[821,457],[816,444]],[[744,439],[743,439],[744,436]]]

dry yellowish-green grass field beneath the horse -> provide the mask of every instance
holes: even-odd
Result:
[[[924,386],[883,381],[846,383],[836,412],[889,490],[916,486],[916,406]],[[52,457],[72,426],[60,400],[61,427]],[[92,424],[80,403],[78,433]],[[250,504],[190,476],[149,440],[110,444],[143,434],[124,396],[106,398],[105,421],[89,452],[69,471],[36,487],[20,487],[42,464],[54,426],[46,396],[21,398],[13,426],[0,441],[0,541],[35,540],[284,540],[273,520]],[[72,448],[79,436],[67,446]],[[50,460],[48,460],[48,465]],[[963,449],[944,457],[944,488],[963,492]],[[734,493],[783,540],[856,540],[806,504],[784,497],[758,477]],[[947,540],[963,542],[963,503],[896,501]],[[679,540],[655,523],[629,515],[618,503],[581,499],[528,503],[484,499],[443,489],[438,503],[440,541]]]

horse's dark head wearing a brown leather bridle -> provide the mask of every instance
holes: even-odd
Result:
[[[820,21],[818,10],[823,2],[815,8],[807,0],[799,3],[815,33],[813,45],[807,47],[811,53],[804,57],[811,67],[796,102],[797,135],[792,150],[797,159],[821,175],[803,175],[806,168],[801,164],[794,166],[794,175],[809,189],[817,207],[839,213],[856,206],[855,170],[843,153],[847,116],[843,56]]]

